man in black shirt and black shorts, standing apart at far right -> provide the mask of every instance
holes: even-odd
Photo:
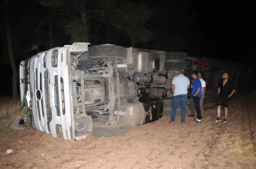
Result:
[[[217,97],[217,120],[215,122],[221,122],[220,120],[220,107],[223,105],[225,111],[225,118],[223,122],[227,122],[228,118],[228,103],[230,97],[235,93],[235,86],[233,82],[229,80],[228,72],[223,74],[223,79],[218,83],[218,97]]]

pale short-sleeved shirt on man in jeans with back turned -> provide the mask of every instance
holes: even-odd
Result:
[[[178,74],[174,77],[172,83],[175,85],[174,96],[186,95],[188,93],[188,85],[190,84],[188,77],[183,74]]]

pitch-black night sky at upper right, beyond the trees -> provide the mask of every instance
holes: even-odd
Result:
[[[246,62],[255,54],[255,4],[250,1],[194,1],[195,25],[206,33],[213,56]]]

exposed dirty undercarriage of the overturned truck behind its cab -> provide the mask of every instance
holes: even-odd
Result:
[[[161,118],[162,98],[143,90],[146,89],[144,84],[150,86],[166,81],[158,74],[160,54],[154,52],[154,56],[149,57],[149,52],[144,52],[144,56],[139,55],[139,64],[136,52],[137,49],[132,48],[99,45],[89,47],[88,53],[71,55],[76,133],[86,131],[99,135],[96,129],[99,130],[100,124],[100,130],[107,130],[106,125],[137,126]],[[92,127],[85,127],[85,123]],[[108,136],[117,134],[113,127],[110,130],[113,133],[107,132]]]

